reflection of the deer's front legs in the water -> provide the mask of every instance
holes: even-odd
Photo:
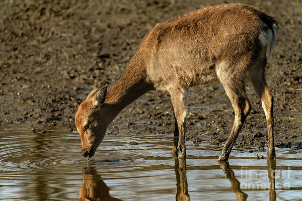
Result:
[[[176,174],[176,201],[189,201],[187,182],[187,161],[186,159],[175,159],[174,169]]]

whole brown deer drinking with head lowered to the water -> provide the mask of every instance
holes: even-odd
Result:
[[[245,84],[261,98],[268,128],[267,158],[274,158],[273,96],[265,81],[267,57],[276,39],[276,21],[254,7],[207,7],[157,24],[142,40],[120,78],[94,89],[80,105],[75,125],[83,156],[92,157],[117,114],[149,90],[168,91],[174,108],[173,153],[186,157],[187,89],[219,80],[235,110],[231,135],[219,161],[229,158],[251,111]]]

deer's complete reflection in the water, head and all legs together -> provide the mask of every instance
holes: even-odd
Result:
[[[220,168],[224,172],[225,178],[228,178],[232,185],[233,192],[237,195],[238,201],[247,200],[248,195],[240,188],[240,182],[235,177],[234,171],[230,168],[229,162],[219,161]],[[267,160],[268,178],[269,178],[269,201],[276,201],[275,191],[275,170],[276,161]],[[176,174],[176,201],[189,201],[187,182],[186,159],[175,159],[174,164]],[[79,201],[84,200],[105,200],[105,201],[121,201],[121,199],[110,196],[109,187],[102,180],[94,167],[83,168],[83,184],[80,188]]]

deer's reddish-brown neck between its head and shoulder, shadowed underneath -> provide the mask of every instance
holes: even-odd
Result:
[[[111,121],[126,106],[152,89],[153,85],[146,82],[146,67],[137,52],[120,78],[108,88],[105,104],[109,107]]]

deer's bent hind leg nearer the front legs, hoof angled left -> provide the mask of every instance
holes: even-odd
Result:
[[[235,110],[235,120],[231,134],[224,144],[218,161],[228,161],[236,138],[251,111],[251,105],[245,91],[244,80],[240,79],[243,76],[236,76],[234,78],[230,78],[230,76],[231,75],[224,74],[223,77],[219,77],[219,79],[224,87],[226,94],[229,96],[232,102],[233,108]]]

